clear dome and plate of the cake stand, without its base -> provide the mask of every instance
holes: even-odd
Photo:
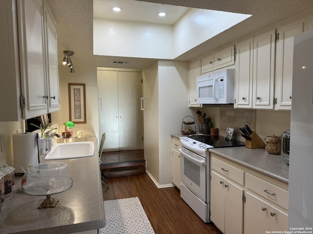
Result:
[[[67,164],[45,162],[29,168],[23,191],[29,195],[52,195],[72,187]]]

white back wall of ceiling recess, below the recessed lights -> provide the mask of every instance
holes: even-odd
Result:
[[[93,19],[93,54],[173,59],[172,26]]]

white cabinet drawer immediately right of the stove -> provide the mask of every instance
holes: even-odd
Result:
[[[244,185],[244,171],[214,157],[211,157],[211,168],[222,175],[227,176],[238,184]]]

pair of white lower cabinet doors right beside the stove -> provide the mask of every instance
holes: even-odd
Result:
[[[244,190],[211,171],[211,220],[225,234],[243,233]]]

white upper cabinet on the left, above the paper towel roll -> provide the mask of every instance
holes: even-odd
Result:
[[[47,10],[44,20],[43,1],[6,0],[0,1],[0,8],[0,57],[5,60],[1,64],[0,98],[7,100],[0,104],[6,110],[0,121],[27,119],[58,110],[56,32]],[[50,102],[53,93],[55,99]]]

